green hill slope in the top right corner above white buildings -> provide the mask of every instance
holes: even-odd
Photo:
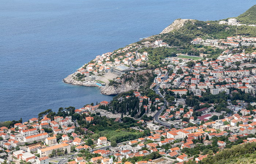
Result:
[[[256,5],[236,17],[241,24],[256,24]]]

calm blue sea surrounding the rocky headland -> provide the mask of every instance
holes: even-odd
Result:
[[[159,34],[175,19],[219,20],[255,0],[1,0],[0,121],[109,101],[96,87],[64,84],[97,55]]]

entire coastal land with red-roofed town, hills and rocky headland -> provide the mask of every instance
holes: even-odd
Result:
[[[0,163],[255,163],[256,5],[237,18],[177,19],[63,81],[117,94],[0,122]]]

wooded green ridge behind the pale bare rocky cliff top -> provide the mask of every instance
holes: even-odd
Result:
[[[256,36],[256,27],[229,26],[227,24],[219,24],[219,21],[208,21],[208,23],[210,24],[207,25],[207,22],[199,20],[188,20],[180,29],[157,35],[154,39],[163,39],[169,46],[182,46],[190,44],[197,37],[204,39],[226,39],[236,35]]]

